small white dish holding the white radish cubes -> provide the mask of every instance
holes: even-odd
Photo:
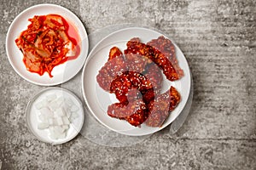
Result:
[[[39,111],[36,108],[36,104],[39,101],[42,101],[47,95],[49,94],[56,94],[57,97],[67,97],[69,99],[73,100],[74,105],[77,105],[79,107],[79,111],[77,112],[79,117],[77,117],[73,123],[70,124],[69,129],[67,130],[67,136],[64,139],[51,139],[49,137],[49,130],[44,129],[44,130],[39,130],[38,129],[38,122],[39,118]],[[30,129],[30,131],[41,141],[50,143],[50,144],[63,144],[74,137],[76,137],[81,128],[83,127],[84,124],[84,106],[80,99],[70,91],[64,88],[46,88],[43,91],[39,92],[36,94],[33,99],[27,104],[26,107],[26,122],[27,126]]]

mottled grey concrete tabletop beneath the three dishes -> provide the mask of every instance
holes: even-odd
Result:
[[[0,5],[0,169],[256,169],[256,3],[253,0],[8,1]],[[5,38],[17,14],[34,4],[73,11],[88,33],[135,23],[172,37],[189,61],[195,95],[189,117],[129,147],[81,135],[53,146],[26,127],[25,109],[45,87],[15,73]]]

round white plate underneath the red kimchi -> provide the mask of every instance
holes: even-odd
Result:
[[[32,18],[34,15],[45,14],[60,14],[65,18],[65,20],[67,20],[67,22],[77,28],[81,40],[81,42],[79,42],[81,48],[79,57],[77,59],[68,60],[64,64],[55,66],[52,71],[52,78],[49,77],[47,72],[44,72],[43,76],[39,76],[37,73],[27,71],[26,66],[22,61],[23,54],[15,44],[15,39],[20,36],[20,32],[25,31],[27,26],[30,24],[28,19]],[[87,32],[79,18],[67,8],[48,3],[32,6],[20,13],[9,26],[6,38],[7,55],[9,62],[15,71],[20,75],[20,77],[23,77],[28,82],[45,86],[52,86],[62,82],[67,82],[69,79],[74,77],[84,65],[88,49],[89,42]]]

